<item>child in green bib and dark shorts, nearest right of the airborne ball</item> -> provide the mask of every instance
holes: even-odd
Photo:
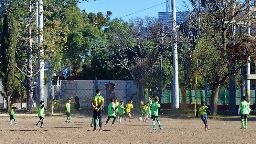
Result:
[[[156,130],[156,127],[155,127],[155,121],[157,119],[157,122],[159,124],[159,128],[160,130],[162,130],[162,126],[161,126],[161,123],[159,121],[159,117],[158,117],[158,110],[161,112],[161,114],[163,115],[163,112],[161,111],[160,109],[160,104],[158,103],[159,101],[159,97],[155,97],[154,98],[154,103],[151,105],[150,107],[150,111],[152,112],[152,115],[151,115],[151,119],[153,119],[153,130]]]

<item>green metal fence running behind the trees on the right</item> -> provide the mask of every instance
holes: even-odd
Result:
[[[198,98],[197,103],[200,103],[202,100],[205,100],[204,90],[197,90]],[[158,96],[158,91],[144,91],[145,100],[147,96]],[[188,89],[186,90],[186,98],[188,104],[194,104],[195,101],[195,90]],[[207,91],[207,103],[210,104],[211,101],[211,90]],[[179,90],[179,102],[181,103],[181,91]],[[236,105],[241,102],[241,93],[240,90],[236,91]],[[164,90],[162,92],[162,103],[171,103],[171,91]],[[218,104],[219,105],[229,105],[229,91],[220,90],[218,94]],[[250,105],[256,104],[256,92],[255,90],[250,90]]]

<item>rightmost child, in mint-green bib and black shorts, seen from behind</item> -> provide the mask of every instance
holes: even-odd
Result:
[[[241,115],[242,127],[247,129],[247,117],[250,115],[250,105],[246,101],[247,97],[243,96],[243,101],[239,104],[238,115]],[[245,122],[244,122],[245,121]]]

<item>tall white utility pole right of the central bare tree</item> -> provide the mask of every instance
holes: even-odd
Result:
[[[175,0],[172,0],[172,22],[174,30],[174,39],[177,38],[177,23],[176,23],[176,5]],[[178,75],[178,46],[176,41],[172,47],[172,63],[173,63],[173,108],[179,108],[179,75]]]

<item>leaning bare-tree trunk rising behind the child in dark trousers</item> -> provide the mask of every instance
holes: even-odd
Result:
[[[220,85],[214,85],[212,87],[211,111],[212,111],[212,115],[214,116],[217,115],[219,91],[220,91]]]

